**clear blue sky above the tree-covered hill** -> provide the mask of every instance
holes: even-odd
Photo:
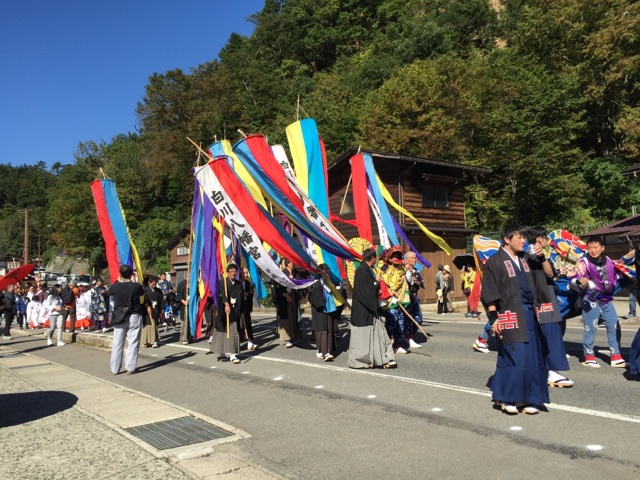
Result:
[[[263,0],[2,0],[0,163],[74,162],[135,131],[153,73],[213,60]]]

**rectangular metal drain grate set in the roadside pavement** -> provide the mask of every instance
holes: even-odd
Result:
[[[184,447],[233,435],[210,423],[193,417],[181,417],[125,429],[158,450]]]

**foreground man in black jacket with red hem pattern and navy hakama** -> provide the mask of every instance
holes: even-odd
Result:
[[[491,330],[503,339],[491,381],[493,401],[507,414],[533,415],[539,405],[549,403],[549,389],[536,320],[540,302],[525,240],[520,225],[504,227],[502,246],[484,268],[481,299]],[[539,246],[532,254],[547,263]]]

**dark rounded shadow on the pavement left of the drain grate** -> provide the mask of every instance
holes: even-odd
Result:
[[[75,395],[57,390],[0,394],[0,428],[55,415],[77,402]]]

